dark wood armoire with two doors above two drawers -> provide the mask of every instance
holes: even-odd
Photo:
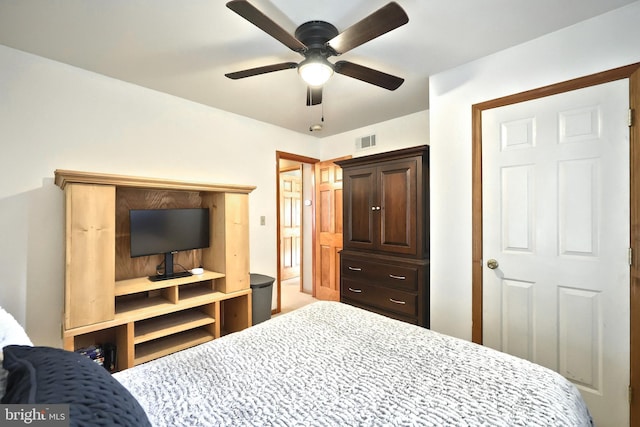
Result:
[[[340,300],[429,327],[429,146],[343,169]]]

